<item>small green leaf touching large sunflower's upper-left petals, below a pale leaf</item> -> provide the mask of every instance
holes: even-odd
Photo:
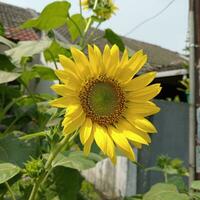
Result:
[[[54,73],[54,70],[49,67],[35,65],[33,67],[33,71],[36,72],[37,75],[44,80],[53,81],[58,79]]]

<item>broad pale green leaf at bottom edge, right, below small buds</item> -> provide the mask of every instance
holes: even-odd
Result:
[[[178,192],[175,185],[158,183],[143,196],[143,200],[189,200],[189,196]]]

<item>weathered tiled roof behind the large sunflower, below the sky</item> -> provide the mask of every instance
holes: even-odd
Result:
[[[5,36],[13,40],[37,40],[39,39],[38,33],[33,29],[21,30],[18,27],[26,20],[33,18],[37,13],[31,9],[19,8],[13,5],[0,2],[0,22],[4,25],[6,32]],[[93,29],[91,29],[92,31]],[[66,26],[57,29],[57,34],[61,39],[70,41],[70,35]],[[94,43],[101,49],[107,44],[107,40],[103,38],[104,31],[98,30],[94,36],[102,36]],[[169,71],[183,69],[184,64],[187,62],[177,52],[162,48],[157,45],[149,44],[146,42],[138,41],[135,39],[122,37],[125,45],[132,51],[143,49],[148,55],[148,64],[143,71]],[[64,42],[65,42],[64,41]]]

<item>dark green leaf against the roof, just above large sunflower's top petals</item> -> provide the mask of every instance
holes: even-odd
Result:
[[[114,31],[112,31],[111,29],[106,29],[104,37],[112,45],[116,44],[119,47],[120,51],[124,51],[124,49],[125,49],[124,43],[123,43],[122,39],[120,38],[120,36],[118,36]]]

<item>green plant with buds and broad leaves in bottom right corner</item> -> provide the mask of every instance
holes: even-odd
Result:
[[[193,181],[188,188],[183,180],[188,176],[188,170],[180,159],[172,159],[161,155],[157,158],[156,165],[146,168],[145,171],[162,173],[164,182],[156,183],[145,194],[126,197],[125,200],[199,200],[200,181]]]

